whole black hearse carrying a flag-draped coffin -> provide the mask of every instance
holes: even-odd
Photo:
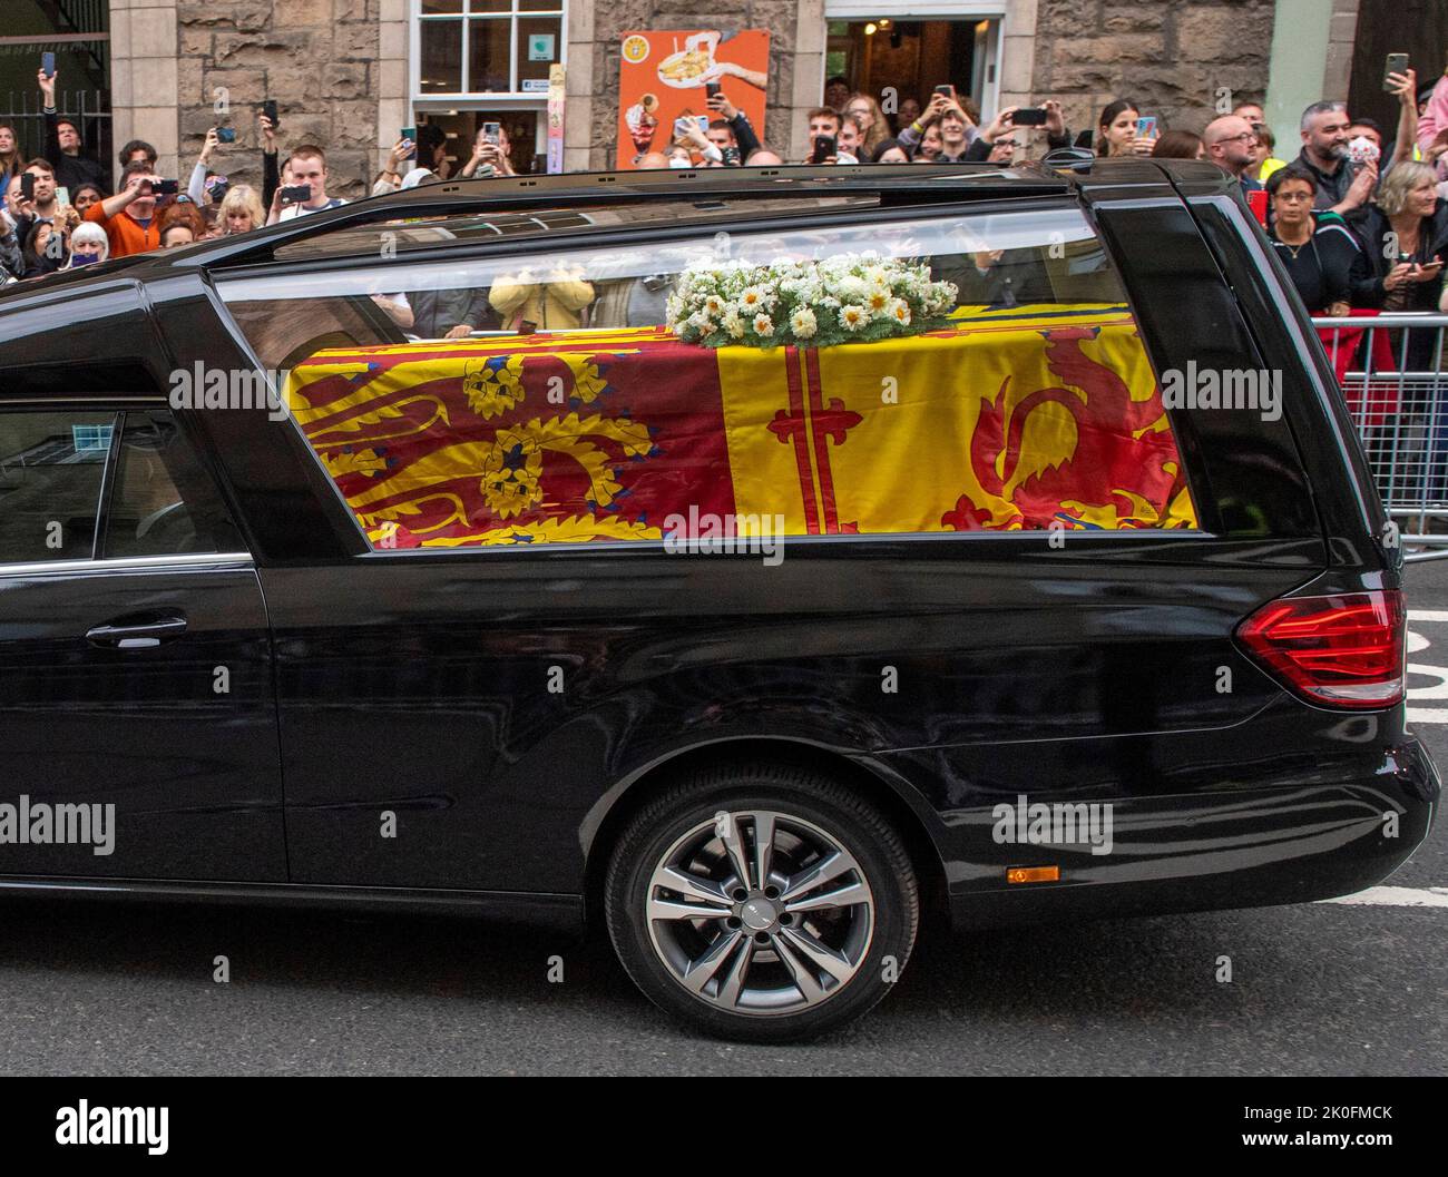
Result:
[[[1384,879],[1403,640],[1208,165],[442,182],[0,295],[7,889],[594,924],[795,1038],[937,924]]]

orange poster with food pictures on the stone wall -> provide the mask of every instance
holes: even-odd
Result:
[[[765,142],[769,33],[763,29],[624,33],[618,61],[620,171],[636,168],[646,152],[666,152],[675,119],[717,117],[707,103],[711,81]]]

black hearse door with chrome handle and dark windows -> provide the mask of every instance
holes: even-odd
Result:
[[[0,401],[0,874],[284,882],[252,557],[159,400]]]

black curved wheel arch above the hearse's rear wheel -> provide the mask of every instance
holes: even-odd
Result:
[[[604,793],[588,812],[579,828],[584,850],[585,924],[597,929],[602,922],[608,859],[639,809],[694,767],[717,769],[728,763],[743,766],[759,762],[812,769],[866,792],[905,843],[919,885],[922,918],[948,922],[946,861],[930,830],[930,809],[908,782],[877,764],[805,740],[727,737],[681,748],[634,770]]]

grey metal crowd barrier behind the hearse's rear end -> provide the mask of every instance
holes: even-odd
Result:
[[[1448,314],[1313,318],[1407,560],[1448,557]]]

